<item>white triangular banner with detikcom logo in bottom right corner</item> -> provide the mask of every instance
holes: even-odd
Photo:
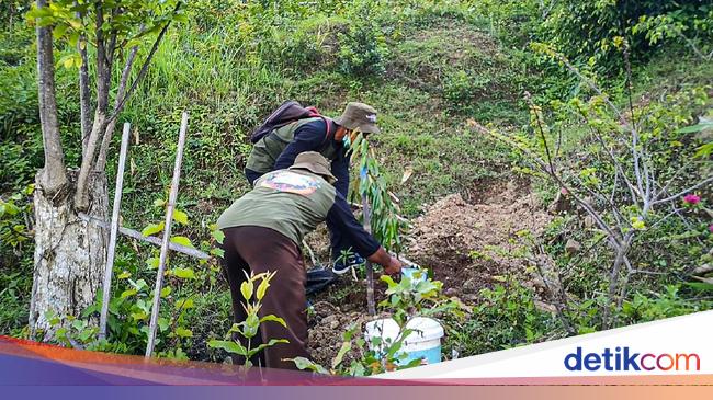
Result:
[[[713,374],[713,311],[380,375],[384,379]]]

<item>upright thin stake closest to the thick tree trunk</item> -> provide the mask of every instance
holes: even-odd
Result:
[[[112,273],[114,271],[114,256],[116,253],[116,232],[118,230],[118,209],[122,205],[122,191],[124,188],[124,165],[128,148],[128,134],[132,124],[124,123],[122,132],[122,147],[118,150],[118,169],[116,170],[116,187],[114,190],[114,209],[112,210],[112,225],[109,230],[109,251],[106,254],[106,268],[104,270],[104,286],[102,292],[102,310],[99,317],[99,339],[106,338],[106,321],[109,319],[109,301],[112,293]]]

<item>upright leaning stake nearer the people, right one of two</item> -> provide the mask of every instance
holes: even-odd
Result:
[[[151,307],[151,320],[148,327],[148,343],[146,344],[146,358],[154,353],[156,340],[156,328],[158,324],[158,311],[161,302],[161,286],[163,285],[163,270],[168,258],[168,247],[171,239],[171,222],[173,221],[173,209],[178,197],[179,179],[181,178],[181,160],[183,159],[183,146],[185,146],[185,132],[189,126],[189,114],[183,112],[181,117],[181,130],[179,132],[179,142],[176,150],[176,163],[173,165],[173,180],[171,181],[171,192],[166,206],[166,224],[163,226],[163,242],[161,243],[161,254],[158,261],[158,271],[156,273],[156,287],[154,288],[154,306]]]

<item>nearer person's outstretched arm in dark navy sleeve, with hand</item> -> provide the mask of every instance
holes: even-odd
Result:
[[[327,219],[347,236],[354,250],[359,254],[366,256],[366,260],[382,265],[384,272],[389,275],[401,271],[401,263],[389,255],[376,239],[364,230],[364,227],[354,218],[347,199],[339,192],[335,195],[335,204],[329,209]]]

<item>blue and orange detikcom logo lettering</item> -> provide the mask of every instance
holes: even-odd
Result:
[[[695,353],[642,354],[632,352],[629,346],[587,354],[577,347],[565,356],[564,363],[569,370],[701,370],[701,358]]]

